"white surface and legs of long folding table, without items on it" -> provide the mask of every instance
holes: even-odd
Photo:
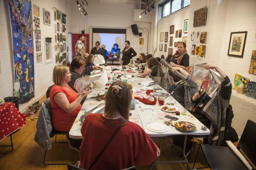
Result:
[[[149,78],[141,78],[141,77],[133,77],[131,79],[128,79],[128,82],[132,84],[133,91],[136,93],[136,91],[141,90],[141,85],[139,83],[145,79]],[[149,86],[153,88],[155,85]],[[155,88],[161,88],[160,86],[156,85]],[[98,93],[102,93],[103,91],[106,91],[103,88],[95,86],[95,88],[92,89],[92,92],[88,95],[87,99],[85,100],[84,104],[82,105],[82,108],[77,115],[77,118],[75,119],[75,122],[73,123],[73,126],[69,132],[70,138],[76,138],[76,139],[82,139],[81,135],[81,126],[82,123],[79,121],[79,117],[85,114],[86,111],[89,111],[96,107],[98,104],[103,103],[104,101],[96,101],[94,98],[90,98],[92,96],[96,96]],[[163,93],[167,93],[164,89],[161,90]],[[196,119],[188,110],[186,110],[180,103],[178,103],[172,96],[168,96],[168,98],[165,99],[165,104],[166,103],[174,103],[174,106],[179,109],[179,112],[185,112],[186,115],[180,114],[179,116],[175,115],[175,113],[170,113],[170,112],[165,112],[161,110],[161,107],[158,106],[158,102],[156,105],[145,105],[138,100],[135,100],[135,109],[131,110],[130,112],[132,113],[132,116],[130,116],[129,121],[136,123],[143,128],[143,130],[150,136],[150,137],[159,137],[160,138],[160,143],[159,143],[159,149],[161,151],[161,146],[162,146],[162,137],[165,136],[173,136],[173,135],[184,135],[184,145],[183,149],[183,156],[184,160],[179,160],[179,161],[156,161],[155,163],[186,163],[188,165],[188,168],[190,169],[190,166],[188,164],[188,160],[185,155],[185,148],[186,148],[186,140],[188,135],[209,135],[210,131],[207,129],[206,131],[203,131],[201,127],[203,124]],[[178,117],[179,119],[177,121],[188,121],[190,123],[193,123],[197,126],[197,130],[194,131],[182,131],[182,130],[177,130],[177,128],[173,126],[168,126],[169,130],[164,132],[164,133],[155,133],[150,131],[147,128],[147,125],[150,123],[164,123],[164,121],[168,121],[170,119],[165,118],[166,115],[172,115],[175,117]],[[153,165],[154,166],[154,165]],[[151,168],[153,168],[153,166]]]

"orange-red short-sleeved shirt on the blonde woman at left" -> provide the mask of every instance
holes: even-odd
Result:
[[[68,84],[66,84],[68,86]],[[65,112],[59,105],[54,101],[53,97],[56,93],[64,93],[67,98],[68,102],[72,103],[75,99],[77,99],[77,93],[68,86],[69,91],[59,85],[52,86],[50,92],[50,103],[52,107],[52,124],[55,130],[57,131],[70,131],[77,114],[81,109],[81,104],[78,105],[75,110],[71,113]]]

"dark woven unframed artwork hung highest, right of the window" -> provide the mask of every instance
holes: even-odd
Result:
[[[194,11],[193,27],[206,25],[207,7]]]

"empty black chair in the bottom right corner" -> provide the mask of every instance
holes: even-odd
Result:
[[[237,149],[247,158],[251,166],[255,170],[256,165],[256,123],[248,120],[243,130],[242,136],[238,143]],[[248,168],[229,148],[224,146],[201,144],[199,149],[202,149],[204,158],[211,169],[218,170],[247,170]],[[199,152],[197,151],[197,155]],[[195,158],[195,161],[197,156]],[[195,161],[193,168],[195,166]],[[204,167],[205,168],[205,167]],[[201,169],[201,168],[197,168]]]

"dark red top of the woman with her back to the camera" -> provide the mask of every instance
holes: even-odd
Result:
[[[117,128],[107,126],[100,119],[106,118],[102,114],[88,114],[81,128],[83,140],[79,154],[84,169],[89,168]],[[122,118],[113,119],[115,121],[123,122]],[[145,131],[138,124],[127,121],[91,170],[121,170],[134,164],[149,165],[159,155],[158,146]]]

